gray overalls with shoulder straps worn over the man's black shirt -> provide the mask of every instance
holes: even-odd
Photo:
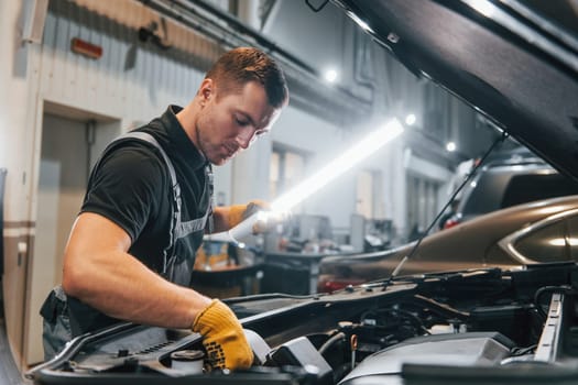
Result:
[[[107,154],[112,148],[117,147],[120,142],[127,140],[141,140],[146,143],[152,144],[156,147],[162,155],[168,173],[171,175],[171,182],[173,186],[173,212],[171,220],[171,241],[170,244],[163,251],[163,271],[162,276],[167,280],[184,284],[183,277],[179,277],[177,268],[175,268],[176,255],[174,253],[174,245],[176,241],[181,238],[187,237],[188,234],[204,230],[207,227],[208,230],[212,232],[212,172],[210,165],[206,167],[206,175],[208,177],[208,187],[209,187],[209,206],[207,211],[201,218],[197,218],[190,221],[183,221],[181,217],[181,187],[176,179],[175,168],[173,163],[162,148],[162,146],[156,142],[156,140],[146,132],[129,132],[124,135],[121,135],[113,140],[107,148],[103,151],[100,160],[95,165],[95,168],[99,166],[105,154]],[[181,274],[182,275],[182,274]],[[68,311],[68,301],[66,294],[64,293],[61,285],[56,286],[51,290],[48,297],[44,301],[40,314],[43,317],[43,333],[42,340],[44,345],[44,360],[48,361],[53,359],[62,349],[65,346],[66,342],[73,339],[75,334],[73,332],[73,327],[70,323],[70,316]]]

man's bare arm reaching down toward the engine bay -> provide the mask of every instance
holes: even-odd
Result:
[[[190,328],[210,299],[149,270],[128,253],[130,244],[129,234],[114,222],[81,213],[65,250],[65,293],[113,318]]]

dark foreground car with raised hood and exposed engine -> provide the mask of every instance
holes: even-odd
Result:
[[[332,3],[412,72],[578,177],[574,2]],[[571,251],[569,229],[564,249]],[[545,241],[560,241],[550,235]],[[578,267],[568,261],[394,275],[334,294],[229,298],[255,355],[248,371],[204,372],[200,334],[121,323],[79,336],[26,375],[37,385],[572,384],[577,293]]]

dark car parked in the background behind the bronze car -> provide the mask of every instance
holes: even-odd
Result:
[[[578,183],[527,148],[517,147],[493,154],[460,193],[444,229],[506,207],[578,194]]]

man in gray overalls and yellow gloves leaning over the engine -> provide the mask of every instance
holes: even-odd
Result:
[[[170,106],[135,130],[161,148],[131,138],[109,145],[73,226],[62,287],[41,310],[46,359],[72,337],[123,320],[190,328],[204,336],[214,367],[251,365],[232,311],[188,286],[204,231],[228,230],[246,210],[211,207],[210,164],[225,164],[269,132],[287,100],[281,68],[259,50],[236,48],[209,69],[188,106]]]

